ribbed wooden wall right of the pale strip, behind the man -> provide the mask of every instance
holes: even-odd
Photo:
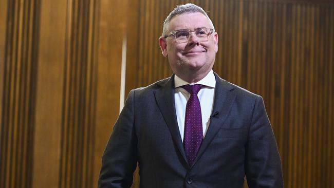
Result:
[[[138,1],[129,7],[137,14],[128,22],[126,91],[171,75],[158,37],[165,16],[190,2],[209,11],[218,32],[214,71],[263,96],[285,187],[333,187],[333,2]]]

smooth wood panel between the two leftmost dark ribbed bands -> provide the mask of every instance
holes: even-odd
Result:
[[[36,96],[33,103],[32,187],[57,187],[59,182],[66,1],[41,1],[36,60]]]

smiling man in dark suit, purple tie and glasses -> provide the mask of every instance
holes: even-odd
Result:
[[[99,187],[283,187],[263,100],[212,71],[218,35],[203,9],[176,7],[159,38],[172,77],[132,90],[105,148]]]

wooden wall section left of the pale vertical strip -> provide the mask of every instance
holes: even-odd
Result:
[[[126,3],[0,2],[0,187],[97,185],[119,114]]]

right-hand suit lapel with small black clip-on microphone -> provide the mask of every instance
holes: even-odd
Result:
[[[209,128],[199,148],[199,151],[197,153],[195,161],[193,162],[193,165],[198,161],[198,159],[201,157],[205,149],[211,143],[212,139],[217,134],[219,128],[221,128],[221,125],[224,124],[224,121],[226,120],[229,111],[231,109],[231,106],[234,102],[234,99],[236,97],[235,93],[233,92],[234,88],[230,84],[228,84],[228,82],[219,78],[219,76],[216,73],[214,74],[216,77],[216,88],[215,88],[215,99],[213,103],[212,114],[214,114],[215,112],[218,112],[218,114],[216,113],[215,116],[212,116],[210,118]]]

